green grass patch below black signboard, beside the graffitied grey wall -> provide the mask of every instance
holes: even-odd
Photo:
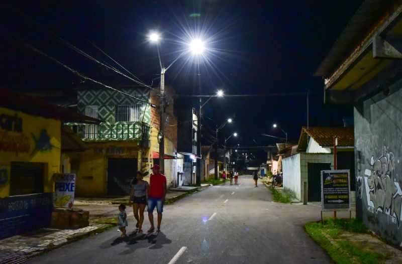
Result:
[[[347,241],[340,237],[343,231],[352,233],[367,233],[367,229],[361,221],[353,218],[333,218],[324,222],[310,222],[305,225],[306,231],[316,240],[330,255],[335,263],[385,263],[390,256],[363,249],[359,244]]]

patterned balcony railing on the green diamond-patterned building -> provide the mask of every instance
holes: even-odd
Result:
[[[77,134],[84,141],[135,141],[149,140],[149,126],[142,122],[103,122],[78,124]],[[143,137],[144,136],[144,137]]]

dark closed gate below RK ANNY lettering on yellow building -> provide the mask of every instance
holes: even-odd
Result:
[[[108,194],[130,195],[131,180],[137,172],[137,159],[108,159]]]

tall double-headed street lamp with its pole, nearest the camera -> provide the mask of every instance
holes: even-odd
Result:
[[[161,105],[160,105],[160,120],[159,120],[159,133],[158,138],[159,141],[159,167],[161,173],[164,172],[165,169],[165,138],[163,135],[164,126],[165,126],[165,110],[166,110],[166,95],[165,95],[165,73],[166,71],[175,63],[179,58],[181,58],[186,52],[182,52],[175,60],[173,60],[169,66],[165,67],[162,63],[162,59],[159,52],[160,45],[160,34],[153,32],[149,35],[149,41],[156,44],[156,48],[158,50],[158,58],[160,65],[160,94],[161,94]],[[204,50],[204,42],[199,39],[192,40],[189,44],[189,49],[195,55],[200,55]]]

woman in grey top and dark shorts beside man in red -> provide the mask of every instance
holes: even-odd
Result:
[[[133,202],[134,218],[137,220],[135,227],[138,232],[142,232],[142,224],[144,222],[145,206],[148,203],[147,193],[149,184],[144,181],[142,172],[136,173],[137,181],[131,187],[130,203]]]

